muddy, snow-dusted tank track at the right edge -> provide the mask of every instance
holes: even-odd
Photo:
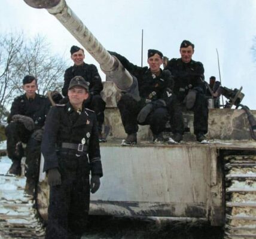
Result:
[[[256,238],[256,155],[224,159],[225,238]]]

